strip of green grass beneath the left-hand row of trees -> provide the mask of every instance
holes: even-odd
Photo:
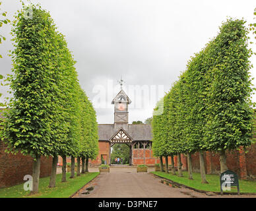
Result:
[[[53,188],[48,188],[49,177],[44,177],[40,179],[39,193],[36,195],[28,196],[30,191],[24,191],[23,183],[13,187],[0,189],[0,198],[68,198],[86,185],[86,183],[94,179],[98,174],[99,172],[82,173],[80,177],[70,179],[70,173],[67,173],[67,182],[65,183],[61,183],[61,174],[57,174],[56,187]]]

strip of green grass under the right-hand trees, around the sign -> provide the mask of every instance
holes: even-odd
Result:
[[[201,183],[200,173],[193,173],[193,180],[187,179],[187,171],[183,171],[184,177],[177,177],[177,175],[172,175],[172,173],[165,173],[160,171],[153,171],[155,175],[170,179],[176,183],[187,185],[194,189],[201,191],[210,191],[210,192],[220,192],[220,177],[218,175],[207,175],[207,181],[209,184]],[[240,193],[256,193],[256,181],[248,180],[239,180]],[[230,191],[224,191],[230,192]],[[231,192],[237,192],[236,187],[231,187]]]

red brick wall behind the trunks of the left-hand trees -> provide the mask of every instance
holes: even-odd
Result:
[[[0,141],[0,188],[24,183],[24,175],[32,175],[32,157],[21,153],[5,153],[5,145]],[[41,158],[40,177],[51,173],[52,158]]]

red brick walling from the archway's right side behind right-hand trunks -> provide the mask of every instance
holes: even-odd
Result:
[[[220,156],[213,152],[204,152],[205,169],[207,174],[220,173]],[[200,172],[199,153],[191,155],[192,167],[194,172]],[[165,159],[163,158],[165,164]],[[171,164],[170,157],[168,158]],[[181,154],[182,169],[187,170],[187,156]],[[133,149],[133,165],[146,164],[154,166],[159,164],[159,158],[154,158],[151,149]],[[249,152],[245,153],[243,149],[231,150],[227,152],[226,164],[228,169],[238,173],[240,179],[256,179],[256,144],[249,148]],[[177,156],[174,156],[174,165],[177,166]]]

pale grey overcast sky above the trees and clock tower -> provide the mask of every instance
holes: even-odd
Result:
[[[20,2],[1,1],[1,11],[7,11],[8,18],[13,20],[15,11],[21,8]],[[222,22],[228,16],[253,22],[256,7],[255,0],[32,2],[40,2],[50,12],[59,32],[65,34],[77,61],[80,86],[94,102],[98,123],[113,123],[111,100],[119,91],[117,80],[121,76],[125,80],[123,89],[132,101],[129,122],[151,117],[154,105],[164,95],[161,90],[167,92],[170,89],[185,70],[189,57],[218,34]],[[10,26],[0,28],[0,34],[7,38],[0,45],[2,75],[11,73],[11,59],[7,56],[7,51],[12,48],[10,32]],[[251,58],[256,67],[255,60],[255,57]],[[251,69],[253,77],[255,70]],[[255,86],[255,80],[253,84]],[[118,88],[112,90],[112,86]],[[129,86],[148,88],[150,102],[143,92],[129,93]],[[105,92],[107,95],[106,107],[97,106],[100,90],[101,94]],[[7,96],[6,91],[6,88],[0,88],[0,93],[4,93],[1,100]],[[143,106],[136,106],[135,102],[143,99]],[[253,101],[256,102],[255,95]]]

